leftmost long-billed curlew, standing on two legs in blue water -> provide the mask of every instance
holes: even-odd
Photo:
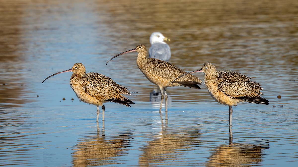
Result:
[[[98,106],[102,106],[103,121],[105,120],[105,106],[103,105],[105,102],[119,103],[127,107],[130,107],[129,104],[134,104],[134,102],[121,95],[130,94],[127,88],[117,84],[105,75],[99,73],[86,74],[86,68],[82,63],[76,63],[71,69],[53,74],[48,78],[65,72],[73,72],[69,83],[77,94],[77,97],[85,103],[97,106],[97,122],[100,112]],[[46,81],[46,79],[44,81]],[[44,81],[42,81],[42,83],[44,83]]]

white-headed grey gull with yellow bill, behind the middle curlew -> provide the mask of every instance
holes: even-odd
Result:
[[[163,61],[169,61],[171,58],[170,46],[164,42],[170,41],[169,38],[164,37],[160,32],[153,32],[150,36],[151,47],[149,49],[149,57]]]

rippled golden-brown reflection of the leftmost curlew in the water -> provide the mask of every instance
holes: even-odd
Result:
[[[97,122],[97,135],[87,136],[75,146],[77,149],[72,154],[72,164],[75,167],[120,164],[117,157],[128,151],[130,138],[129,134],[107,138],[104,123],[103,130],[100,131]]]

